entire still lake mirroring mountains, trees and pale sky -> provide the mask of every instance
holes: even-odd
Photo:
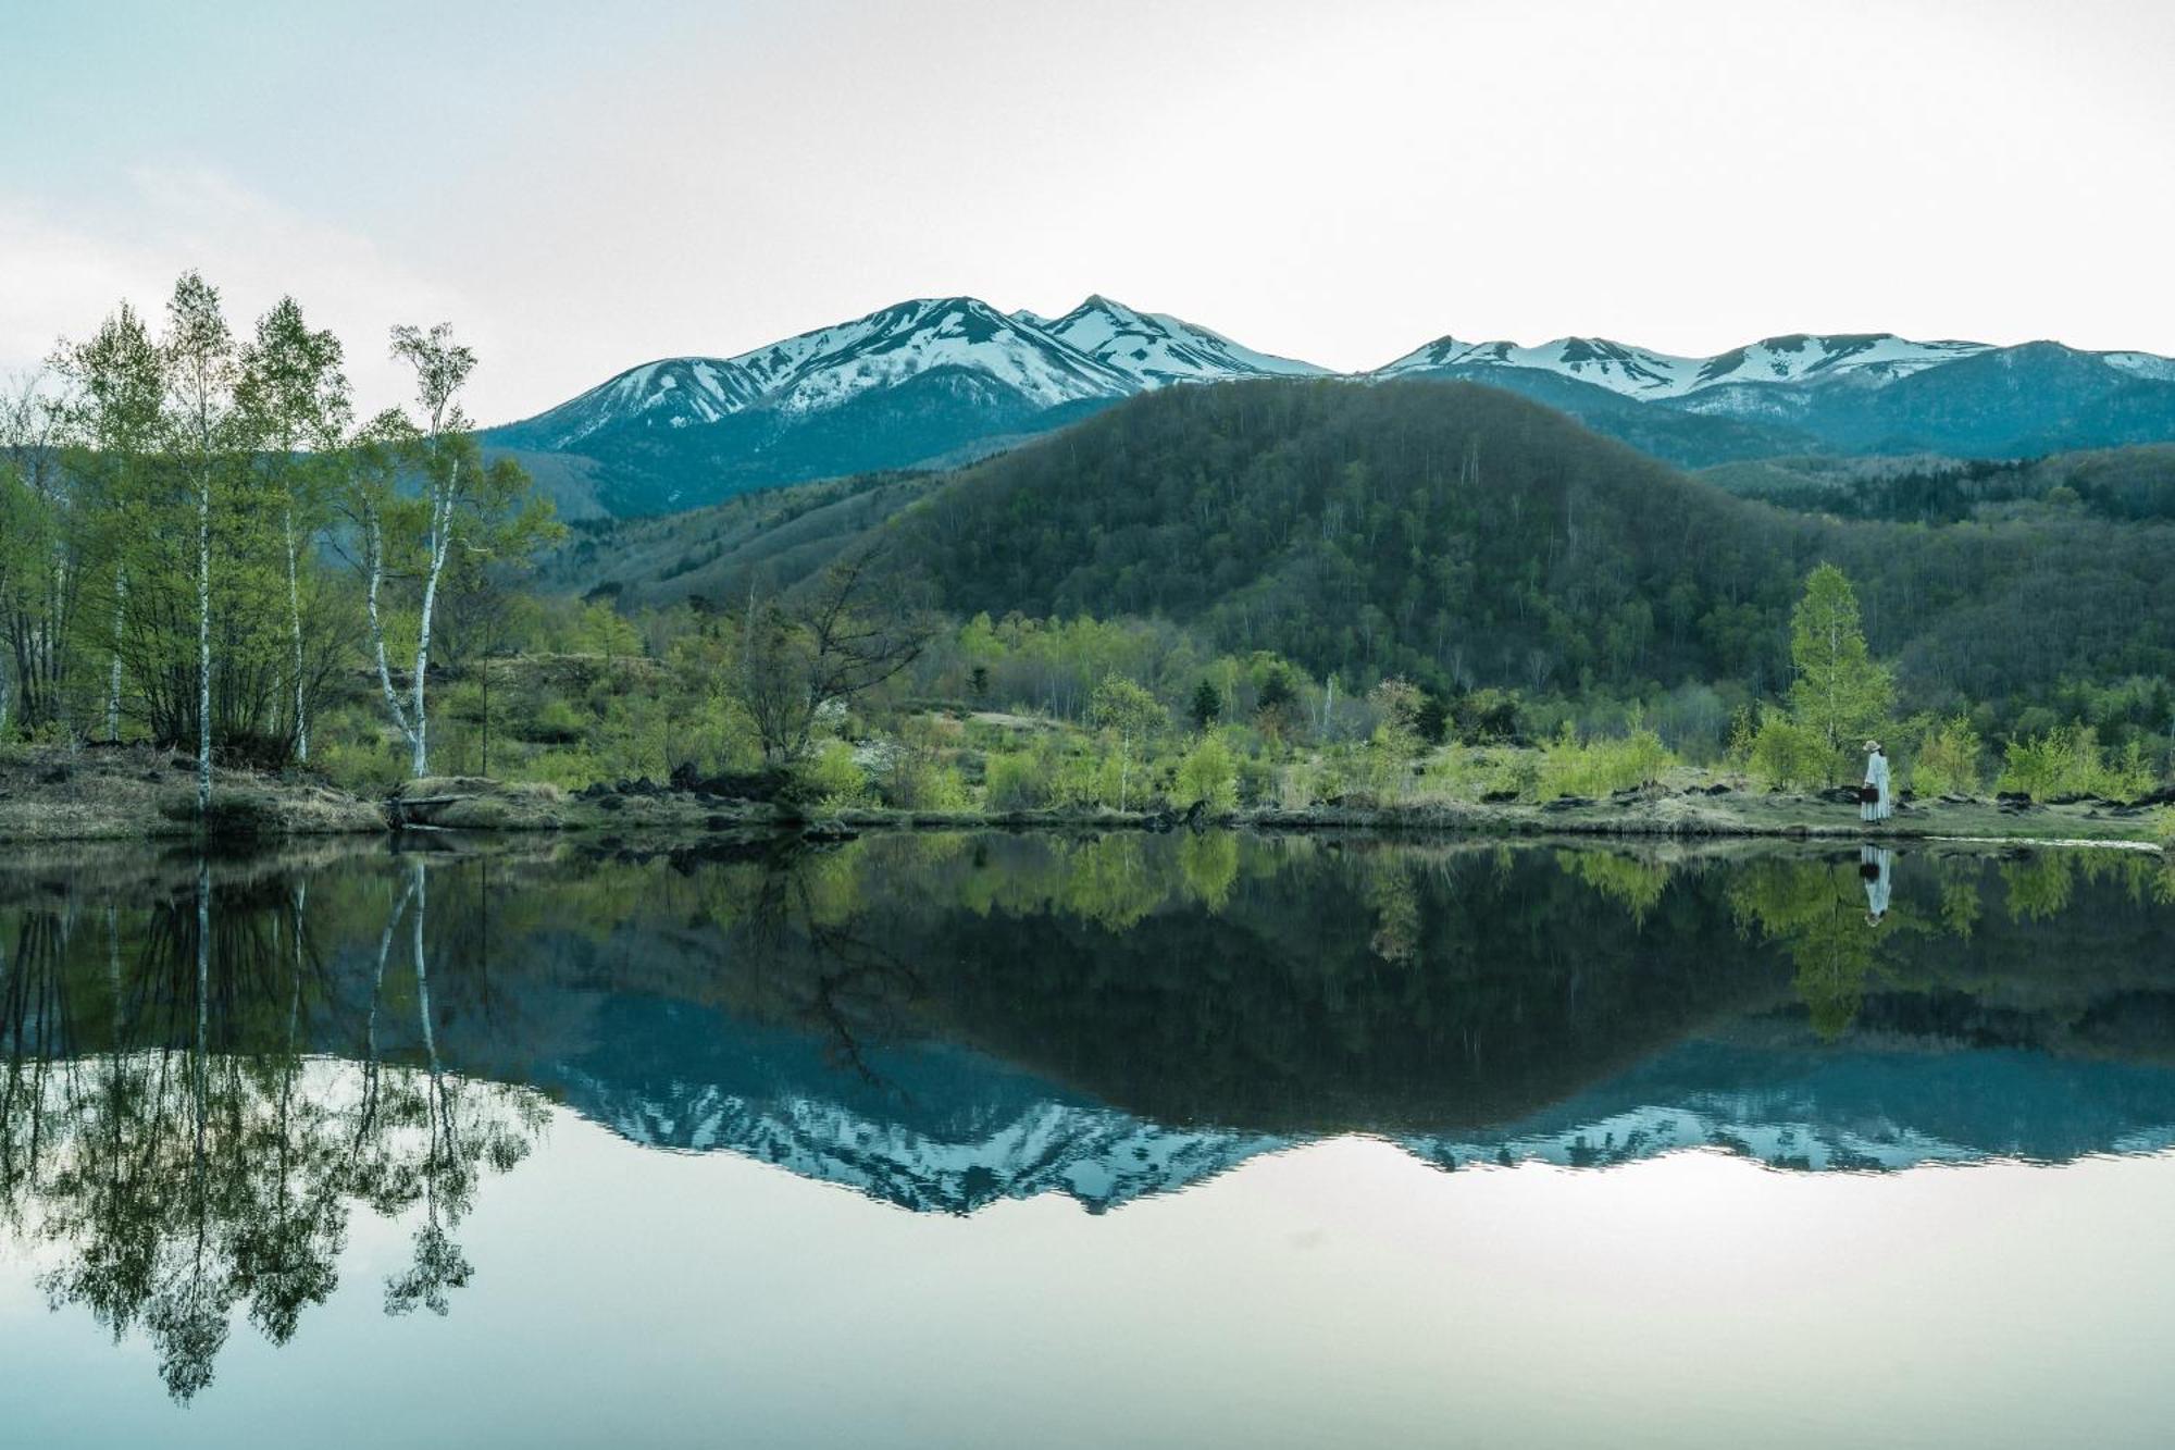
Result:
[[[2155,856],[0,864],[22,1446],[2158,1446]]]

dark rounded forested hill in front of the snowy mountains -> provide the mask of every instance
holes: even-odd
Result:
[[[1346,681],[1760,690],[1805,573],[1834,560],[1927,703],[2175,666],[2166,525],[1788,514],[1475,383],[1174,388],[953,475],[826,488],[598,536],[559,568],[726,603],[883,538],[961,616],[1155,614]]]

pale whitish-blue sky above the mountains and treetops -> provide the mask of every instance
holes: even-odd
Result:
[[[2175,353],[2158,0],[0,0],[0,374],[294,292],[472,411],[909,296],[1270,353],[1786,331]]]

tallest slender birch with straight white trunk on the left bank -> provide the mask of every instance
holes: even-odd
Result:
[[[241,364],[220,294],[198,272],[174,283],[161,353],[172,455],[196,496],[196,814],[211,810],[211,492],[233,455]]]

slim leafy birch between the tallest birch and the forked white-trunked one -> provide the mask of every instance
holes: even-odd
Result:
[[[237,403],[259,440],[257,466],[281,499],[287,562],[287,638],[294,679],[289,710],[294,753],[309,760],[309,668],[302,649],[300,553],[318,533],[328,455],[352,418],[348,379],[339,370],[339,337],[313,331],[302,307],[285,296],[257,320],[257,340],[241,357]]]

